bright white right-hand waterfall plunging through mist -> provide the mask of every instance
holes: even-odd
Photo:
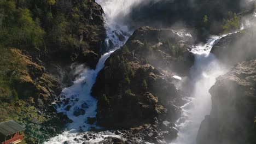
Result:
[[[176,122],[178,138],[171,142],[173,144],[195,144],[199,126],[205,115],[210,114],[211,95],[208,90],[214,85],[216,77],[225,73],[224,67],[210,51],[225,36],[213,36],[205,45],[194,46],[191,50],[195,55],[195,64],[190,69],[194,88],[191,101],[182,106],[182,117]]]

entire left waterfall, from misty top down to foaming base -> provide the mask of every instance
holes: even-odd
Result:
[[[51,138],[49,141],[44,142],[44,144],[61,144],[65,141],[68,141],[68,143],[83,143],[83,141],[75,141],[73,139],[75,137],[82,138],[83,131],[87,131],[96,125],[95,123],[88,124],[87,120],[88,117],[96,117],[97,100],[92,97],[90,93],[96,81],[97,74],[104,67],[104,62],[111,53],[123,45],[131,34],[127,26],[119,24],[121,17],[118,19],[117,17],[126,15],[131,6],[139,1],[98,0],[96,2],[102,6],[105,13],[105,28],[107,34],[105,43],[109,46],[109,41],[111,41],[113,45],[108,48],[112,48],[113,50],[105,53],[100,58],[95,70],[89,68],[84,69],[71,87],[63,89],[61,94],[63,95],[63,103],[56,105],[56,110],[58,113],[65,113],[73,122],[67,125],[67,130],[64,133]],[[121,41],[119,39],[120,35],[122,35],[125,40]],[[94,140],[90,140],[90,143],[97,143],[109,135],[115,136],[112,133],[105,132],[102,135],[98,134],[98,137]]]

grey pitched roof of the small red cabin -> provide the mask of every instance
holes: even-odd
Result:
[[[0,123],[0,134],[3,134],[4,136],[15,134],[22,130],[25,130],[25,128],[13,120]]]

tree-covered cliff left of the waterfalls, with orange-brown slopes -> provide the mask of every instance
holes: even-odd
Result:
[[[52,103],[74,79],[72,63],[95,68],[106,37],[95,1],[1,1],[0,122],[42,143],[70,122]]]

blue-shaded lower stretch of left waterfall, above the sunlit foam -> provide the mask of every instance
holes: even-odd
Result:
[[[104,67],[105,60],[112,52],[114,52],[114,50],[105,53],[100,58],[95,70],[85,69],[83,73],[79,75],[78,79],[74,81],[73,86],[63,89],[62,95],[65,95],[64,100],[68,99],[69,103],[62,104],[57,108],[57,112],[63,112],[72,119],[73,123],[68,125],[69,129],[86,131],[90,127],[95,126],[95,124],[90,125],[85,123],[87,117],[96,117],[97,100],[94,97],[91,97],[91,88],[96,81],[98,72]],[[70,107],[68,111],[67,107]],[[75,116],[82,114],[83,111],[85,112],[84,115]]]

